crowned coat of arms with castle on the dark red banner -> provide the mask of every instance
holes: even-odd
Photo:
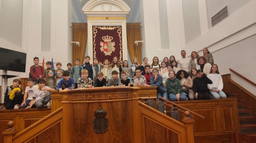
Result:
[[[115,42],[113,41],[113,42],[111,42],[112,40],[113,40],[113,37],[112,36],[103,36],[102,37],[102,40],[104,41],[104,42],[102,42],[102,41],[100,41],[100,51],[101,52],[103,52],[104,54],[105,54],[105,56],[106,55],[109,55],[109,56],[111,56],[111,54],[112,54],[112,52],[114,52],[115,51]]]

